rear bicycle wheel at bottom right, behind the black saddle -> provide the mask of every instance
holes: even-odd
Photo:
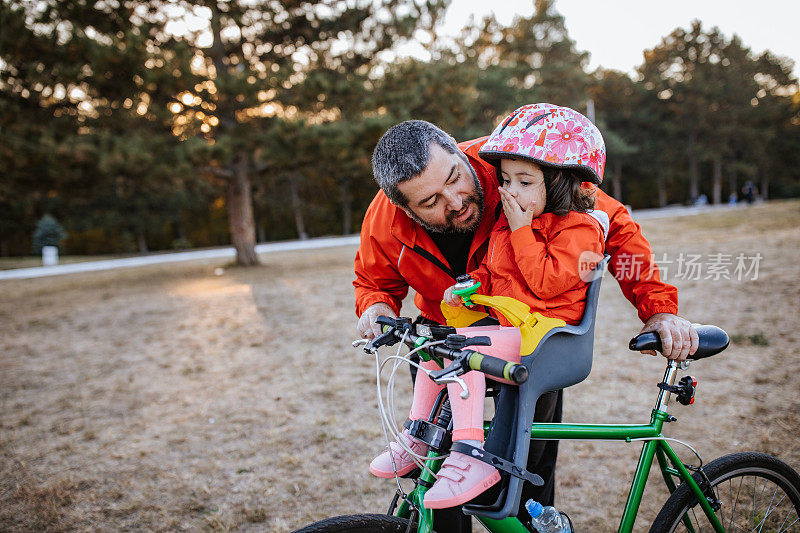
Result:
[[[703,470],[722,505],[716,514],[726,531],[800,532],[800,475],[780,459],[765,453],[740,452],[715,459]],[[701,484],[699,472],[692,477]],[[751,501],[752,508],[747,509]],[[766,508],[762,510],[764,502]],[[684,515],[695,531],[713,531],[697,498],[682,483],[656,516],[650,533],[687,531]]]

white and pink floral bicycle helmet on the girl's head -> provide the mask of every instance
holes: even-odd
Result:
[[[606,146],[600,130],[574,109],[553,104],[520,107],[498,125],[478,155],[493,165],[504,157],[536,164],[577,168],[600,184]]]

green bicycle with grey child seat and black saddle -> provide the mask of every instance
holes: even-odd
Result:
[[[536,348],[522,357],[519,364],[481,354],[469,347],[471,339],[454,337],[455,329],[448,326],[417,325],[408,318],[379,319],[384,333],[364,346],[369,353],[375,353],[380,346],[401,342],[419,352],[423,359],[434,359],[440,364],[441,370],[429,373],[434,381],[460,383],[465,392],[466,386],[459,376],[470,370],[480,370],[487,377],[516,384],[496,385],[496,414],[485,424],[487,453],[482,460],[500,471],[502,481],[489,494],[464,505],[463,512],[474,515],[492,533],[530,532],[530,526],[515,515],[522,483],[536,484],[537,479],[541,479],[525,469],[531,439],[642,441],[641,455],[620,520],[620,532],[633,530],[654,459],[671,495],[656,516],[651,532],[800,532],[800,475],[786,463],[764,453],[741,452],[703,464],[697,452],[687,445],[699,460],[698,465],[688,465],[670,446],[669,441],[674,439],[662,435],[664,423],[675,420],[667,411],[671,398],[675,397],[684,405],[694,402],[696,381],[691,376],[678,379],[678,372],[686,369],[689,361],[667,363],[648,424],[533,423],[534,406],[542,393],[578,383],[591,370],[600,280],[601,276],[597,276],[589,288],[581,323],[553,327],[540,334]],[[492,297],[481,298],[473,300],[493,305]],[[526,320],[522,328],[533,325],[535,330],[536,317],[530,315]],[[699,326],[697,330],[700,347],[692,360],[710,357],[728,346],[728,336],[721,329]],[[365,341],[356,341],[354,346],[362,342]],[[638,335],[629,347],[635,351],[661,348],[654,333]],[[445,365],[446,361],[452,362]],[[387,514],[328,518],[297,533],[434,531],[434,515],[423,506],[423,498],[436,480],[442,455],[450,449],[451,429],[452,414],[445,388],[427,423],[413,428],[414,435],[430,445],[423,468],[404,476],[414,481],[413,490],[406,493],[398,483]]]

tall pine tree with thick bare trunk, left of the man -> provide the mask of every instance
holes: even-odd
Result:
[[[195,117],[202,113],[207,118],[199,132],[185,134],[199,134],[209,143],[209,149],[198,155],[206,162],[205,170],[226,186],[237,261],[256,264],[252,183],[255,176],[276,167],[285,131],[281,123],[306,114],[318,120],[337,112],[336,101],[326,100],[316,109],[298,102],[298,88],[310,83],[314,67],[363,77],[373,57],[411,35],[425,19],[433,20],[443,3],[198,0],[183,5],[208,17],[211,33],[209,47],[190,40],[205,81],[181,96],[182,113]],[[325,93],[314,94],[315,100],[319,95]],[[288,157],[297,152],[292,146],[286,149]],[[296,191],[302,173],[295,169],[287,177],[290,190]],[[292,197],[298,199],[295,193]],[[299,209],[297,202],[298,221]]]

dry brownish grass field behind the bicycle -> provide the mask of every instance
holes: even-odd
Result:
[[[755,280],[668,269],[681,313],[735,342],[692,365],[697,401],[665,433],[706,460],[754,449],[800,469],[800,202],[644,231],[658,258],[762,256]],[[367,469],[383,446],[374,366],[350,347],[354,252],[0,282],[0,530],[282,532],[383,512],[393,483]],[[565,420],[648,420],[663,362],[627,350],[640,327],[607,276],[594,369],[566,391]],[[562,445],[557,506],[578,531],[616,531],[640,447]],[[654,477],[637,531],[665,499]]]

